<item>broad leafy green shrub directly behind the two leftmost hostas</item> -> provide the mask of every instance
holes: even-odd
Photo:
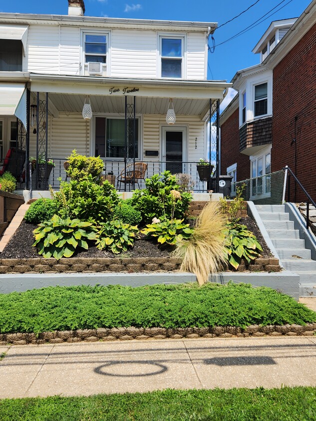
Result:
[[[115,188],[108,182],[96,184],[89,175],[81,181],[61,183],[60,192],[54,193],[58,213],[62,217],[104,222],[112,219],[119,202]]]

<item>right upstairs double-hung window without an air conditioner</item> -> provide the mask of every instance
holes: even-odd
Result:
[[[161,77],[183,78],[184,37],[160,37]]]

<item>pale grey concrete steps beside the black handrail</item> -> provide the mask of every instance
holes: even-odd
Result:
[[[316,298],[316,260],[294,228],[284,205],[256,205],[285,269],[300,275],[300,296]]]

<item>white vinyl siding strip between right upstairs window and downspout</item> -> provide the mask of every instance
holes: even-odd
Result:
[[[206,33],[189,32],[187,37],[187,79],[205,79]]]

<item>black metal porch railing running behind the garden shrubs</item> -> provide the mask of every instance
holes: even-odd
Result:
[[[61,179],[62,181],[66,180],[66,172],[64,169],[64,162],[66,161],[66,159],[60,159],[60,158],[51,158],[51,159],[54,161],[55,167],[51,171],[47,185],[50,184],[52,188],[58,189],[59,179]],[[190,176],[191,181],[193,183],[193,187],[191,187],[190,190],[194,191],[195,193],[207,192],[206,182],[200,181],[199,175],[197,172],[197,167],[196,167],[197,163],[194,161],[191,161],[191,162],[141,161],[141,162],[147,164],[145,179],[152,177],[155,174],[161,174],[165,170],[171,171],[172,174],[185,173]],[[125,169],[124,160],[103,161],[103,163],[104,163],[103,173],[108,174],[109,172],[112,172],[113,175],[116,176],[116,179]],[[138,182],[139,182],[139,188],[144,189],[145,188],[144,180],[139,180]],[[117,183],[115,182],[115,187],[116,186],[117,186]],[[118,184],[118,187],[120,187],[120,183]],[[46,190],[45,183],[42,186],[39,186],[39,189]],[[132,189],[131,186],[126,185],[126,190],[129,191],[129,189]],[[36,188],[34,184],[34,180],[32,180],[32,190],[38,190],[38,188]],[[124,191],[123,183],[119,190]]]

